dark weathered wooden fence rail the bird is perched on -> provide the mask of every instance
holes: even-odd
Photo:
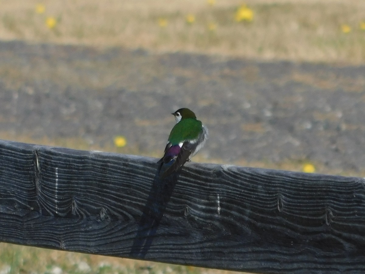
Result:
[[[364,179],[0,141],[0,241],[258,273],[365,272]]]

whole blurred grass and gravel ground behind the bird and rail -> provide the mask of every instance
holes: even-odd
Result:
[[[365,1],[0,0],[0,139],[365,176]],[[0,243],[0,273],[223,273]]]

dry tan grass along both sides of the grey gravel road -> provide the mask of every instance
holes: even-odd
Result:
[[[362,24],[365,24],[365,1],[12,0],[0,3],[2,40],[99,48],[142,47],[151,52],[181,50],[258,60],[365,62]],[[253,11],[251,22],[234,20],[242,4]],[[187,22],[188,15],[193,22]],[[24,141],[31,142],[27,138]],[[42,143],[89,149],[79,140],[43,140]],[[118,152],[118,149],[109,151]],[[0,244],[0,273],[3,274],[226,272]]]

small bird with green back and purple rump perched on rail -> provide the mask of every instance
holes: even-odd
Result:
[[[172,128],[165,148],[164,157],[158,161],[170,164],[162,174],[162,178],[169,176],[173,172],[180,170],[186,161],[190,161],[203,146],[208,137],[208,130],[201,121],[196,119],[195,114],[189,109],[179,109],[172,113],[176,120],[176,125]]]

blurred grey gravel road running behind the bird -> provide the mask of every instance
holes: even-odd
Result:
[[[3,132],[162,153],[180,107],[209,129],[203,157],[365,170],[365,66],[0,42]]]

